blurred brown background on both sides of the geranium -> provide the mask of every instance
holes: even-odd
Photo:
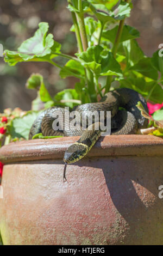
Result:
[[[62,44],[62,52],[74,54],[77,51],[71,14],[66,0],[0,0],[0,43],[5,49],[16,50],[23,40],[34,34],[39,22],[49,23],[49,32],[54,40]],[[142,50],[152,56],[163,44],[163,1],[133,0],[134,8],[127,20],[130,26],[140,31],[138,39]],[[64,64],[64,63],[63,63]],[[31,108],[36,92],[26,89],[27,78],[39,72],[51,95],[65,88],[73,88],[76,78],[62,80],[59,69],[48,63],[20,63],[8,66],[0,57],[0,112],[4,108]]]

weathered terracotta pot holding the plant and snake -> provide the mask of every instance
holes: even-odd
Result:
[[[163,139],[101,138],[67,166],[77,137],[11,143],[5,163],[0,229],[5,245],[163,244]]]

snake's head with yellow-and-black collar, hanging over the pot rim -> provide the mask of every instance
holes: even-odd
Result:
[[[65,152],[64,162],[74,163],[82,159],[88,151],[89,147],[83,143],[76,142],[72,144]]]

